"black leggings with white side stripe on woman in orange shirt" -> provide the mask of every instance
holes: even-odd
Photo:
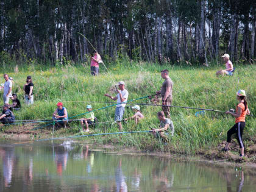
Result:
[[[244,148],[242,135],[245,127],[245,122],[238,122],[227,132],[227,142],[231,142],[231,136],[236,133],[236,140],[239,143],[240,148]]]

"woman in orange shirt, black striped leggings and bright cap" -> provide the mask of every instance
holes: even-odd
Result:
[[[245,99],[246,93],[244,90],[238,90],[236,93],[236,99],[239,101],[239,104],[236,106],[235,113],[227,111],[226,114],[235,116],[235,126],[233,126],[227,132],[227,143],[225,148],[222,151],[229,151],[229,146],[231,142],[231,136],[236,133],[236,139],[240,146],[240,157],[244,157],[244,144],[242,140],[243,130],[245,127],[245,118],[246,115],[250,114],[250,110],[247,107],[247,102]]]

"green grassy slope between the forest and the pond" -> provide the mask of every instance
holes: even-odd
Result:
[[[247,92],[251,113],[256,114],[256,66],[237,65],[233,77],[217,78],[215,73],[222,67],[224,65],[205,68],[204,66],[160,66],[125,62],[123,65],[108,65],[108,70],[115,82],[119,80],[126,82],[129,99],[154,94],[155,90],[159,90],[163,82],[160,71],[167,68],[174,82],[173,105],[228,110],[229,108],[235,108],[237,104],[236,91],[244,89]],[[100,69],[101,75],[98,77],[90,76],[89,72],[89,67],[85,65],[51,67],[33,64],[17,67],[5,65],[1,68],[2,74],[8,73],[9,77],[14,78],[13,92],[17,93],[18,98],[22,101],[22,109],[15,112],[16,119],[51,119],[55,104],[59,101],[62,101],[68,109],[69,117],[86,112],[85,106],[87,103],[82,103],[82,101],[111,102],[112,100],[103,96],[104,93],[111,93],[113,88],[113,82],[103,66]],[[22,91],[28,75],[32,76],[35,85],[35,104],[29,107],[24,105]],[[2,78],[1,83],[4,83],[4,78]],[[113,92],[111,94],[115,95]],[[136,102],[146,103],[149,102],[149,99],[141,99]],[[93,103],[92,105],[96,109],[110,104]],[[124,130],[149,130],[149,126],[157,127],[156,113],[159,110],[161,110],[160,107],[141,106],[141,111],[146,118],[138,127],[135,127],[133,121],[128,121],[123,126]],[[182,154],[195,154],[219,146],[222,141],[226,140],[226,132],[233,126],[234,118],[230,115],[215,112],[206,112],[204,116],[196,117],[194,115],[196,112],[197,110],[172,108],[171,119],[174,122],[175,134],[168,146],[163,146],[148,133],[94,137],[93,141],[99,144],[116,143],[121,146],[135,146],[143,150],[164,149],[165,151]],[[116,124],[112,124],[114,113],[115,107],[95,112],[94,115],[99,119],[99,122],[111,122],[98,124],[96,129],[92,130],[92,133],[117,132],[118,127]],[[127,107],[124,118],[131,115],[132,110]],[[82,118],[82,116],[77,118]],[[247,117],[246,122],[244,143],[248,147],[256,143],[254,140],[256,118]],[[41,125],[44,124],[26,126],[26,129]],[[70,129],[68,130],[61,129],[55,132],[54,137],[82,134],[79,133],[80,125],[77,122],[70,123],[69,126]],[[4,131],[22,128],[21,126],[2,126],[0,129],[4,133]],[[51,127],[48,127],[48,129],[51,129]],[[40,137],[43,137],[43,135]],[[88,140],[88,138],[85,138],[85,140]],[[256,158],[256,154],[255,156],[252,154],[250,158]]]

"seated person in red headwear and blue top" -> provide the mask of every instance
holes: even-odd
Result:
[[[66,124],[68,124],[68,112],[65,107],[63,107],[62,102],[58,102],[57,108],[53,113],[52,119],[54,120],[64,120],[57,121],[57,125],[59,127],[64,126],[66,128]]]

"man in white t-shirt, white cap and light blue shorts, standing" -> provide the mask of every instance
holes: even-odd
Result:
[[[107,93],[104,94],[104,96],[107,96],[108,98],[114,101],[117,100],[118,105],[116,105],[115,121],[118,124],[119,130],[123,129],[121,121],[124,115],[124,107],[126,107],[126,103],[123,103],[123,102],[127,101],[128,95],[129,95],[128,91],[124,88],[124,85],[125,84],[123,81],[118,82],[118,87],[120,90],[117,90],[118,94],[116,94],[115,98],[113,96],[110,96]]]

